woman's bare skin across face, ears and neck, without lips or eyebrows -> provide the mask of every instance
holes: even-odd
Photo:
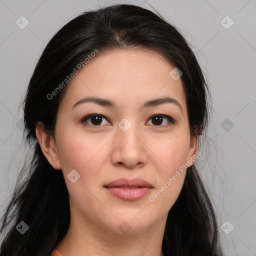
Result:
[[[152,50],[101,52],[66,85],[54,137],[38,122],[36,136],[42,152],[55,169],[62,170],[69,192],[71,221],[56,246],[64,256],[161,255],[167,214],[186,169],[154,202],[149,196],[198,150],[198,136],[190,137],[182,81],[169,75],[174,67]],[[92,102],[72,108],[85,96],[110,99],[116,108]],[[182,110],[174,103],[141,108],[149,99],[166,96],[177,100]],[[94,113],[106,119],[99,125],[91,118],[81,121]],[[176,123],[163,117],[155,124],[150,116],[159,113]],[[127,131],[118,127],[123,118],[131,124]],[[67,178],[72,169],[80,174],[74,183]],[[153,188],[136,201],[121,200],[103,187],[119,177],[140,177]],[[123,221],[131,227],[126,233],[118,228]]]

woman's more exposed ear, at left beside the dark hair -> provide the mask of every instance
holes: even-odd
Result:
[[[56,143],[52,135],[46,132],[42,122],[36,123],[35,134],[40,144],[42,153],[54,169],[60,169],[61,165],[57,153]]]

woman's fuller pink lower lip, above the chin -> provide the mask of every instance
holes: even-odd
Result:
[[[148,194],[152,188],[121,188],[121,187],[105,187],[112,195],[126,201],[135,201]]]

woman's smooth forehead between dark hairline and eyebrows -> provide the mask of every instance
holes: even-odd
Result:
[[[185,108],[182,80],[169,72],[175,67],[155,50],[118,49],[102,51],[69,82],[63,101],[75,103],[84,96],[108,98],[118,106],[141,104],[153,97],[170,96]]]

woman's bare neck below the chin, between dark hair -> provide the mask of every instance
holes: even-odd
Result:
[[[66,235],[57,244],[64,256],[161,256],[167,215],[143,230],[118,233],[83,218],[70,216]],[[84,252],[86,251],[86,254]]]

